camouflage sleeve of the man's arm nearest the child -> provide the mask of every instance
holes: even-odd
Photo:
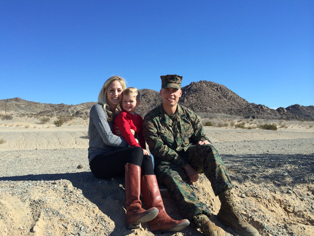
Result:
[[[144,117],[143,121],[143,135],[148,143],[149,151],[155,159],[167,161],[181,167],[187,164],[187,161],[173,149],[164,145],[160,132],[157,129],[157,122],[149,120],[147,116]]]

